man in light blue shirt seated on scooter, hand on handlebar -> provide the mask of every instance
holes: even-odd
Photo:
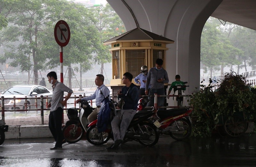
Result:
[[[92,111],[92,113],[87,118],[90,123],[97,119],[97,115],[100,112],[100,104],[101,104],[102,99],[104,97],[107,97],[110,94],[108,87],[106,87],[103,84],[103,82],[104,82],[104,76],[101,74],[97,74],[96,78],[95,78],[95,85],[97,85],[98,87],[95,90],[94,94],[76,100],[76,103],[79,103],[82,100],[89,101],[89,100],[95,99],[96,108]],[[109,97],[109,100],[110,100],[110,97]]]

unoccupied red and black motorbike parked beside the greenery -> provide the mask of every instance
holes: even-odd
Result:
[[[145,110],[148,98],[143,97],[139,101],[138,110]],[[169,110],[157,110],[154,119],[150,119],[160,131],[160,134],[168,134],[175,140],[185,140],[192,132],[192,109],[173,108]]]

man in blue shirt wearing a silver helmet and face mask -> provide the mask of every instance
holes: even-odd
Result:
[[[143,65],[140,68],[140,74],[134,78],[135,83],[140,85],[140,90],[139,90],[139,97],[145,94],[145,86],[146,86],[146,80],[147,80],[147,75],[148,75],[148,67],[146,65]],[[150,89],[150,85],[148,86],[148,89]]]

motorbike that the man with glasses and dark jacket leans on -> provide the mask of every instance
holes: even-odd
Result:
[[[116,106],[117,104],[113,105]],[[154,146],[158,142],[159,133],[157,132],[157,128],[151,123],[152,121],[148,120],[153,119],[150,117],[154,115],[154,110],[154,108],[151,110],[140,110],[134,115],[124,136],[124,143],[135,140],[144,146]],[[116,110],[116,112],[121,112],[121,109]],[[93,145],[102,145],[110,138],[113,139],[113,133],[111,131],[111,125],[108,125],[108,128],[104,132],[99,133],[96,126],[97,121],[95,120],[88,125],[86,139]]]

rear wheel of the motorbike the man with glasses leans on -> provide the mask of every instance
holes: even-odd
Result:
[[[140,131],[140,128],[142,132]],[[149,123],[141,123],[140,128],[137,128],[136,133],[143,133],[142,135],[146,136],[147,139],[139,139],[139,143],[142,144],[143,146],[154,146],[159,139],[159,133],[157,132],[156,127]]]

